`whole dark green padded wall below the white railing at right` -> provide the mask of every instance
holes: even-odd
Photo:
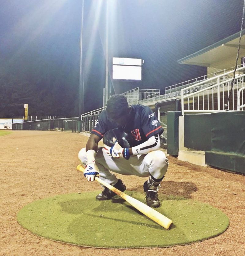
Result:
[[[205,151],[205,163],[245,173],[245,111],[184,115],[184,146]]]

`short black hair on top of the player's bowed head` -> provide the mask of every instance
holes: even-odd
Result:
[[[124,95],[115,94],[107,100],[106,112],[109,118],[115,119],[127,114],[128,107],[127,98]]]

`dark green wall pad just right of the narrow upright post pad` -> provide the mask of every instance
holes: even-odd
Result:
[[[211,149],[211,114],[184,115],[184,146],[195,150]]]

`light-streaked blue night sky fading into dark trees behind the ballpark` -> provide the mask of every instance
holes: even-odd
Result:
[[[85,0],[84,111],[103,106],[105,2]],[[142,58],[142,81],[115,93],[160,89],[206,74],[177,60],[239,32],[243,0],[109,0],[109,57]],[[1,0],[0,118],[78,116],[80,0]],[[234,60],[235,65],[235,60]],[[110,69],[110,75],[111,75]]]

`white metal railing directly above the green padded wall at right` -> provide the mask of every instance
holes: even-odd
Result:
[[[244,70],[245,67],[241,67],[236,71],[232,98],[230,98],[228,104],[228,110],[230,111],[237,110],[237,95],[239,88],[243,86]],[[232,70],[183,88],[181,90],[182,114],[188,112],[211,113],[225,111],[225,99],[229,95],[233,72]]]

